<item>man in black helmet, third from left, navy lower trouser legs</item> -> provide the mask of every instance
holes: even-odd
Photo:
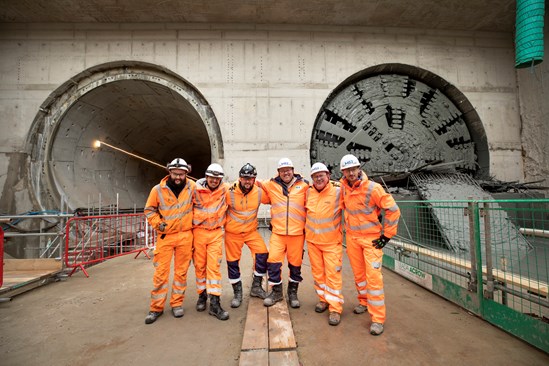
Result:
[[[269,251],[263,238],[257,231],[257,212],[261,203],[267,203],[267,194],[255,185],[257,170],[247,163],[238,173],[227,192],[227,223],[225,224],[225,255],[229,281],[233,286],[234,298],[231,307],[237,308],[242,303],[242,279],[238,262],[242,256],[244,244],[250,248],[254,257],[254,277],[250,296],[264,299],[267,293],[263,290],[263,277],[267,275],[267,257]]]

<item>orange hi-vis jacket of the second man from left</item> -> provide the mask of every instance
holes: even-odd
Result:
[[[227,183],[221,183],[215,191],[212,191],[206,184],[206,178],[196,181],[193,198],[193,228],[215,230],[225,224],[225,213],[227,212],[225,195],[228,186]]]

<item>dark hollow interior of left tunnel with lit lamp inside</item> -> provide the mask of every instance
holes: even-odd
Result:
[[[94,142],[102,144],[95,148]],[[124,150],[130,154],[124,153]],[[206,127],[173,90],[146,80],[104,84],[64,114],[51,141],[51,169],[69,208],[143,207],[150,189],[180,157],[203,176],[211,160]]]

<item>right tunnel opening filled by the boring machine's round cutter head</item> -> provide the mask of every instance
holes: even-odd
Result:
[[[489,166],[484,128],[465,96],[442,78],[402,64],[351,76],[322,106],[311,163],[324,162],[339,178],[346,154],[369,176],[389,180],[431,165],[487,176]]]

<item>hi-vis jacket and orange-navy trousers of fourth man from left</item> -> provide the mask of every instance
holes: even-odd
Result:
[[[267,271],[269,285],[282,283],[284,255],[288,256],[290,281],[301,282],[305,229],[305,192],[309,183],[299,174],[288,187],[280,177],[263,182],[262,187],[271,204],[272,234],[269,242]]]

